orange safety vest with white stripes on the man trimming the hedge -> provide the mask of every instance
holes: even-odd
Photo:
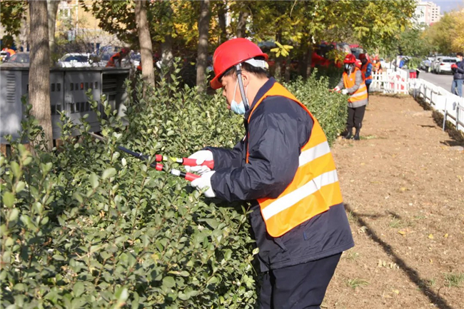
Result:
[[[300,104],[314,121],[311,137],[301,148],[299,166],[293,181],[278,198],[258,198],[266,230],[272,237],[279,237],[314,216],[328,211],[331,206],[342,203],[343,198],[326,134],[308,108],[280,83],[274,83],[274,86],[256,102],[248,116],[248,122],[253,111],[267,96],[290,98]],[[250,141],[249,131],[247,138]],[[246,163],[248,156],[247,145]]]

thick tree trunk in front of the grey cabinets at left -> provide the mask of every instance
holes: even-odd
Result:
[[[32,116],[44,128],[46,150],[53,148],[50,108],[50,49],[46,1],[29,0],[31,61],[29,65],[29,103]],[[40,137],[39,137],[40,138]]]

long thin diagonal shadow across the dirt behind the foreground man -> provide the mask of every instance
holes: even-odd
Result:
[[[445,299],[443,299],[438,293],[435,293],[433,290],[431,290],[428,285],[427,285],[427,280],[424,278],[421,278],[418,271],[415,270],[414,268],[411,268],[408,264],[405,263],[405,261],[400,258],[399,255],[397,255],[393,250],[391,245],[389,245],[387,242],[382,240],[374,231],[372,228],[370,228],[369,224],[363,220],[363,217],[367,217],[366,215],[363,215],[362,213],[356,213],[353,211],[353,209],[350,208],[349,204],[345,204],[345,209],[346,211],[350,214],[350,217],[353,218],[354,221],[358,224],[358,226],[365,226],[365,234],[368,235],[368,237],[373,240],[375,243],[380,245],[382,247],[383,251],[390,255],[392,258],[393,262],[396,263],[396,265],[399,266],[400,270],[403,271],[406,275],[408,275],[409,280],[417,285],[418,290],[420,290],[423,295],[425,295],[430,302],[435,304],[436,308],[439,309],[453,309],[448,303],[446,302]],[[392,214],[390,214],[391,216]],[[398,216],[394,214],[395,216]],[[399,216],[398,216],[399,217]]]

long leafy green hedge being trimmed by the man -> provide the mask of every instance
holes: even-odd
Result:
[[[46,153],[41,128],[26,118],[30,148],[11,141],[11,156],[0,157],[1,308],[254,308],[248,204],[203,198],[116,147],[188,156],[243,137],[220,91],[200,95],[170,79],[146,98],[141,83],[126,83],[134,93],[126,127],[102,101],[106,143],[87,133],[85,119],[76,128],[61,116],[64,144]],[[346,98],[329,93],[324,78],[287,86],[333,141]]]

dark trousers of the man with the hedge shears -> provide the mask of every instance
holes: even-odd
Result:
[[[260,309],[319,309],[340,257],[338,253],[269,270],[261,286]]]

